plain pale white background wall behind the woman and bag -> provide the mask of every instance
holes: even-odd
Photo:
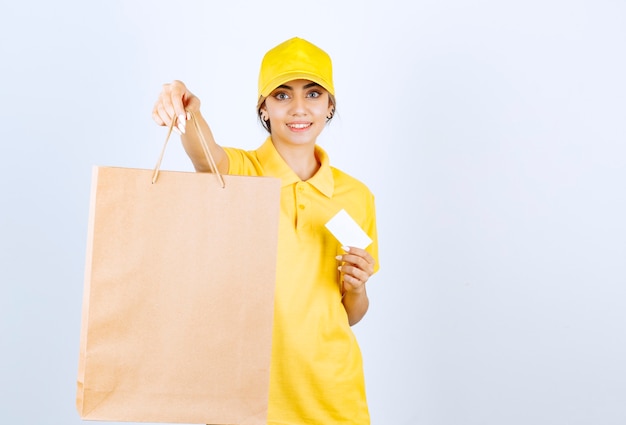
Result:
[[[334,60],[319,143],[377,196],[373,424],[626,423],[621,0],[3,1],[0,422],[81,423],[92,165],[154,165],[172,79],[255,148],[262,55],[293,36]]]

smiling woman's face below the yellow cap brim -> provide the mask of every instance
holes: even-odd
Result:
[[[274,143],[315,144],[333,106],[328,91],[309,80],[292,80],[265,99]]]

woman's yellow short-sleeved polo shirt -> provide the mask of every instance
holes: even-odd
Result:
[[[369,424],[361,352],[341,303],[335,256],[343,251],[324,224],[345,208],[374,241],[378,269],[374,196],[319,147],[321,168],[307,181],[271,138],[226,153],[230,174],[282,180],[268,424]]]

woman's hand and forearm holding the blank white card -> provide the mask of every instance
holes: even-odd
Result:
[[[342,275],[343,307],[348,313],[350,326],[356,325],[367,313],[369,298],[365,283],[374,274],[374,258],[359,248],[344,248],[346,254],[338,255],[342,261],[339,270]]]

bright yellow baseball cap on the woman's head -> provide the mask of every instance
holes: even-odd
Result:
[[[305,79],[335,95],[330,56],[306,40],[294,37],[268,51],[261,62],[259,98],[267,97],[278,86]]]

